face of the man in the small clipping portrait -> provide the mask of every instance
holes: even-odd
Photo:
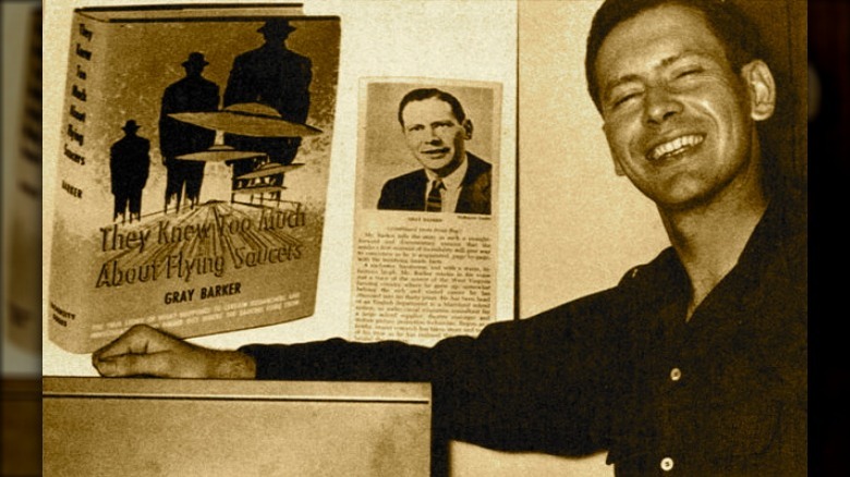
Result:
[[[425,169],[446,176],[463,163],[472,123],[458,122],[448,102],[437,98],[411,101],[401,118],[408,147]]]

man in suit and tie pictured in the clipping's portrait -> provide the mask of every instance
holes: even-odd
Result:
[[[460,101],[418,88],[404,95],[398,115],[422,169],[387,181],[378,209],[489,215],[493,167],[466,150],[473,126]]]

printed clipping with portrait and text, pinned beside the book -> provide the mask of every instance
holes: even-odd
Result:
[[[496,315],[500,85],[361,84],[355,340],[433,344]]]

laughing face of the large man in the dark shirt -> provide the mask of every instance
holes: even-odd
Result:
[[[617,172],[659,207],[761,187],[753,94],[700,12],[668,4],[619,24],[599,49],[596,72]]]

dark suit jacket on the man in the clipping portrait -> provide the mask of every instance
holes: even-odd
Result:
[[[466,174],[461,182],[456,213],[490,213],[490,172],[493,167],[466,152]],[[428,176],[424,169],[390,179],[378,199],[380,210],[425,210]]]

